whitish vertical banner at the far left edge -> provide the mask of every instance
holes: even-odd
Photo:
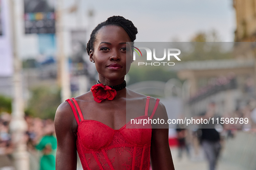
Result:
[[[12,76],[13,54],[11,46],[11,27],[9,0],[0,0],[2,36],[0,36],[0,76]]]

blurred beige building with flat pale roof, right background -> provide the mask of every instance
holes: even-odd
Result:
[[[184,63],[183,69],[178,71],[178,77],[188,82],[186,88],[190,94],[185,103],[191,116],[203,113],[211,102],[217,104],[217,112],[222,115],[233,112],[242,104],[242,99],[249,100],[249,94],[254,93],[252,82],[246,86],[246,81],[251,81],[254,73],[250,61],[196,61],[194,67],[188,63],[191,62]]]

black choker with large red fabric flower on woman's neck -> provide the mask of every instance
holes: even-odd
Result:
[[[94,97],[94,101],[100,103],[103,100],[112,101],[116,95],[117,91],[122,90],[126,87],[126,81],[124,81],[120,85],[108,86],[97,81],[96,85],[91,87],[92,95]]]

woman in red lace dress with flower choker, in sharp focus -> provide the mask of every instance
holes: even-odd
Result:
[[[133,42],[136,34],[137,28],[122,16],[112,16],[92,31],[87,53],[99,81],[56,111],[56,170],[76,170],[77,151],[84,170],[149,170],[150,164],[153,170],[174,170],[168,125],[126,128],[135,127],[126,116],[167,119],[159,99],[126,88],[124,76],[132,63],[126,42]]]

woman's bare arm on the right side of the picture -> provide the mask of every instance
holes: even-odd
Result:
[[[159,103],[156,114],[153,116],[153,119],[157,118],[164,119],[165,122],[167,122],[168,119],[165,106],[161,103]],[[169,147],[168,123],[160,125],[160,128],[162,129],[152,129],[150,148],[150,161],[152,170],[175,170],[172,161],[172,154]]]

